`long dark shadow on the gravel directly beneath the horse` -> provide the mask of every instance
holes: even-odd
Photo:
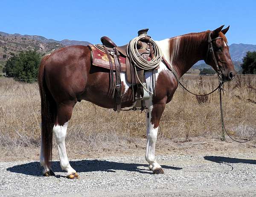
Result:
[[[80,160],[80,161],[70,161],[70,165],[76,170],[76,172],[95,172],[95,171],[105,171],[105,172],[115,172],[115,170],[125,170],[129,172],[140,172],[146,174],[152,174],[148,168],[143,169],[143,167],[148,167],[147,164],[140,163],[118,163],[106,160]],[[162,166],[163,169],[173,169],[180,170],[182,168],[173,166]],[[42,176],[43,168],[40,166],[39,162],[24,163],[17,166],[12,166],[7,168],[10,172],[21,173],[32,176]],[[59,161],[52,161],[53,172],[62,172]]]

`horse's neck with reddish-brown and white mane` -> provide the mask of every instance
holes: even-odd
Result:
[[[162,44],[163,55],[180,77],[196,62],[204,59],[207,53],[207,35],[207,32],[192,33],[162,41],[166,43],[166,46]]]

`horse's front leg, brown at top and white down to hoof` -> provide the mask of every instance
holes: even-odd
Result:
[[[165,109],[165,105],[165,102],[154,104],[148,106],[148,109],[146,110],[147,146],[145,159],[149,163],[149,169],[151,169],[155,174],[164,173],[162,167],[157,163],[157,160],[155,159],[155,145],[157,141],[159,122],[163,110]]]

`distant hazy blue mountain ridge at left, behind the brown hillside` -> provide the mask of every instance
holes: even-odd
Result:
[[[43,43],[52,43],[52,42],[56,42],[59,43],[61,45],[89,45],[90,42],[87,41],[77,41],[77,40],[69,40],[69,39],[63,39],[61,41],[55,40],[55,39],[47,39],[43,36],[37,36],[37,35],[21,35],[21,34],[8,34],[5,33],[3,31],[0,31],[0,35],[4,36],[4,37],[23,37],[23,38],[27,38],[27,39],[34,39],[34,40],[38,40],[39,42],[43,42]]]

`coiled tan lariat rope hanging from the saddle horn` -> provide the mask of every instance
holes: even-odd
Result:
[[[140,53],[137,49],[138,41],[145,40],[145,39],[147,40],[148,43],[152,45],[154,49],[154,54],[153,54],[153,57],[151,57],[151,61],[147,61],[142,56],[140,56]],[[129,57],[131,64],[133,64],[135,67],[134,70],[140,84],[148,93],[154,94],[153,92],[148,90],[147,87],[145,87],[145,85],[143,85],[143,83],[140,81],[136,68],[140,68],[142,70],[154,70],[155,68],[157,68],[158,65],[160,65],[160,62],[162,61],[163,53],[159,48],[159,46],[157,45],[157,43],[147,35],[141,35],[141,36],[135,37],[129,42],[128,47],[126,49],[126,53]]]

